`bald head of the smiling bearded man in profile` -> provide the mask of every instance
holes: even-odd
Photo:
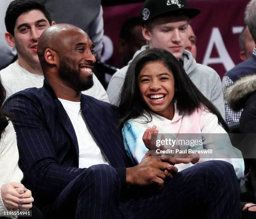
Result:
[[[93,44],[87,33],[70,24],[47,28],[38,41],[37,53],[47,81],[62,81],[80,92],[92,87],[95,64]]]

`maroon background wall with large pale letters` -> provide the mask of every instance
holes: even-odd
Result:
[[[222,77],[239,57],[239,30],[243,27],[244,10],[249,0],[195,0],[189,7],[199,8],[200,15],[192,19],[197,36],[197,62],[207,64]],[[106,62],[119,66],[118,36],[122,23],[140,14],[142,3],[104,7],[104,30],[113,43],[113,55]],[[108,45],[107,45],[108,44]],[[111,54],[111,42],[105,41],[105,54]],[[208,49],[208,53],[207,53]],[[103,59],[105,57],[103,55]]]

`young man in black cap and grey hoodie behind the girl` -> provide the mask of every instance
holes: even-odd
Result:
[[[218,74],[210,67],[197,64],[192,54],[184,51],[187,42],[189,19],[200,13],[199,9],[187,8],[186,0],[146,0],[141,10],[142,34],[148,41],[134,55],[147,48],[160,47],[179,59],[197,88],[218,108],[224,117],[222,85]],[[128,66],[117,71],[107,89],[112,104],[118,105],[119,92],[123,86]]]

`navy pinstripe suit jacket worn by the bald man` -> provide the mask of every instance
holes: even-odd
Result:
[[[46,80],[42,88],[13,94],[4,110],[15,127],[23,183],[32,190],[37,205],[49,204],[83,171],[78,168],[79,148],[69,116]],[[115,108],[82,94],[81,110],[124,185],[125,167],[131,161],[125,153]]]

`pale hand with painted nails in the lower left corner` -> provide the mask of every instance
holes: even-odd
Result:
[[[3,204],[8,210],[21,209],[27,211],[32,207],[34,201],[31,191],[21,183],[4,184],[1,189]]]

